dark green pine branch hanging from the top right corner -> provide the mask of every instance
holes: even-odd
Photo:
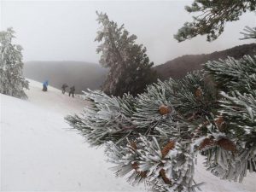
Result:
[[[192,22],[184,23],[174,38],[182,42],[197,35],[207,34],[207,41],[212,41],[224,32],[226,22],[239,20],[247,11],[255,11],[255,0],[195,0],[191,6],[185,9],[189,13],[198,13],[193,16]]]

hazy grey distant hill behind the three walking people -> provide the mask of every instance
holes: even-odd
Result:
[[[64,83],[75,85],[76,93],[87,88],[99,89],[107,73],[99,64],[79,61],[29,61],[24,65],[26,78],[39,82],[48,79],[49,84],[58,89]]]

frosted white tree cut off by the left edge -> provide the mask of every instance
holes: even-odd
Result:
[[[24,88],[28,89],[28,81],[22,74],[22,48],[13,44],[15,38],[14,30],[8,28],[7,31],[0,32],[0,92],[26,98]]]

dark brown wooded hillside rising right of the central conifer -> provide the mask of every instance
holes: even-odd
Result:
[[[253,54],[256,54],[256,44],[243,44],[231,49],[215,51],[212,54],[183,55],[172,61],[167,61],[165,64],[156,66],[154,69],[160,74],[161,79],[168,79],[170,77],[179,79],[188,72],[201,69],[201,64],[207,61],[216,61],[219,58],[225,59],[228,56],[239,59],[243,55]]]

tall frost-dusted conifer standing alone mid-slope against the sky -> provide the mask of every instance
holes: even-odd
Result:
[[[102,67],[109,68],[102,90],[113,96],[143,92],[147,84],[156,82],[156,73],[151,68],[154,63],[149,61],[147,49],[136,44],[137,37],[130,35],[124,25],[118,26],[106,14],[96,14],[101,26],[96,41],[102,42],[96,52],[101,53]]]

